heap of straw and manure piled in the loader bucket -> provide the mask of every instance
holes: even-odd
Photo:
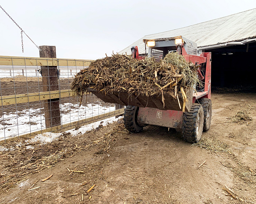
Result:
[[[135,91],[141,95],[167,93],[176,98],[180,88],[193,89],[200,83],[196,69],[199,65],[187,62],[178,53],[169,53],[159,62],[155,58],[138,60],[127,55],[113,54],[93,61],[76,74],[71,89],[82,101],[86,89],[106,93]]]

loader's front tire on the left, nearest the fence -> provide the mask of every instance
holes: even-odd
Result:
[[[142,131],[143,127],[137,122],[138,117],[138,106],[127,105],[124,113],[124,124],[125,128],[132,133]]]

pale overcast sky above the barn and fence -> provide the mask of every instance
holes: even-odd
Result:
[[[256,7],[255,0],[0,0],[37,45],[55,45],[58,58],[98,59],[144,35],[173,30]],[[170,36],[172,37],[172,36]],[[39,57],[0,10],[0,55]]]

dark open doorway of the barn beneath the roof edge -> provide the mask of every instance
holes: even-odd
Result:
[[[212,88],[256,88],[256,42],[205,50],[212,52]],[[255,90],[256,92],[256,90]]]

